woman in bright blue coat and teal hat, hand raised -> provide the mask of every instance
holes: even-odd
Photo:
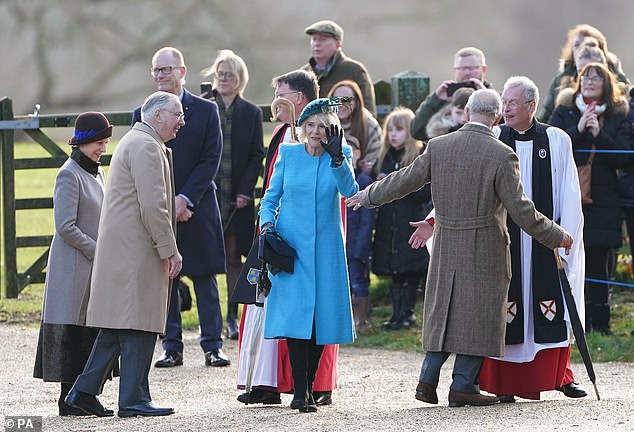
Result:
[[[260,208],[263,233],[277,231],[295,249],[293,274],[270,274],[264,337],[286,339],[295,391],[291,408],[317,410],[312,383],[325,344],[354,340],[341,197],[358,191],[352,151],[343,145],[339,98],[302,111],[302,142],[279,147]]]

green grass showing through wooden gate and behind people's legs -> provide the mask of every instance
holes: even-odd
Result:
[[[111,153],[115,144],[111,144]],[[45,156],[46,152],[36,144],[20,143],[16,145],[17,158]],[[55,181],[55,169],[41,169],[37,171],[22,171],[16,174],[17,198],[47,197],[52,195]],[[18,212],[18,235],[42,235],[53,232],[52,210],[26,210]],[[24,248],[18,252],[18,267],[24,270],[45,249]],[[619,272],[617,280],[632,282],[631,257],[621,251],[619,258]],[[4,271],[4,269],[3,269]],[[224,275],[218,276],[221,307],[226,312],[227,290]],[[189,283],[191,286],[191,282]],[[4,288],[3,288],[4,289]],[[14,323],[27,326],[37,326],[40,319],[43,285],[30,285],[22,291],[18,299],[0,299],[0,323]],[[359,335],[356,345],[362,347],[381,347],[392,350],[406,350],[422,352],[421,347],[421,317],[422,305],[417,304],[416,315],[418,322],[407,330],[386,331],[381,324],[389,319],[391,305],[389,301],[389,280],[372,277],[372,328]],[[195,299],[194,299],[195,301]],[[612,336],[591,333],[588,344],[595,361],[634,361],[634,338],[630,332],[634,330],[634,289],[613,287],[611,292],[612,304]],[[183,313],[183,326],[195,329],[198,317],[195,304],[192,310]],[[573,361],[580,361],[578,351],[573,348]]]

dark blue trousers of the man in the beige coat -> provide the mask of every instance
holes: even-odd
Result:
[[[121,357],[119,408],[150,402],[148,375],[155,344],[156,333],[102,329],[73,388],[91,395],[101,394],[106,378]]]

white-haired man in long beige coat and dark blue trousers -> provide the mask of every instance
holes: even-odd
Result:
[[[100,417],[114,415],[96,395],[119,356],[119,417],[174,412],[152,403],[148,374],[156,336],[165,332],[170,279],[182,267],[165,142],[176,136],[184,114],[178,96],[156,92],[141,117],[112,155],[86,315],[86,325],[101,331],[65,400]]]

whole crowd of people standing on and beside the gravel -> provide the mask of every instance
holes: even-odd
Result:
[[[309,62],[271,82],[281,125],[266,151],[262,112],[243,97],[247,66],[231,50],[201,71],[211,87],[200,96],[184,87],[178,49],[154,54],[157,91],[134,111],[107,180],[99,159],[112,126],[102,113],[77,117],[55,181],[34,369],[61,383],[59,415],[114,415],[97,395],[116,376],[120,417],[174,412],[154,404],[148,375],[157,336],[155,367],[184,362],[176,287],[185,276],[204,364],[230,365],[223,273],[241,403],[281,404],[291,393],[300,412],[332,404],[339,344],[373,326],[371,273],[389,279],[386,330],[413,326],[423,302],[416,399],[438,403],[452,353],[452,407],[550,390],[586,396],[570,367],[572,305],[553,249],[586,331],[610,334],[623,213],[634,227],[629,80],[603,34],[570,29],[539,115],[529,77],[498,93],[484,52],[464,47],[452,79],[380,124],[343,29],[323,20],[305,32]],[[290,246],[292,270],[262,267],[268,238]]]

